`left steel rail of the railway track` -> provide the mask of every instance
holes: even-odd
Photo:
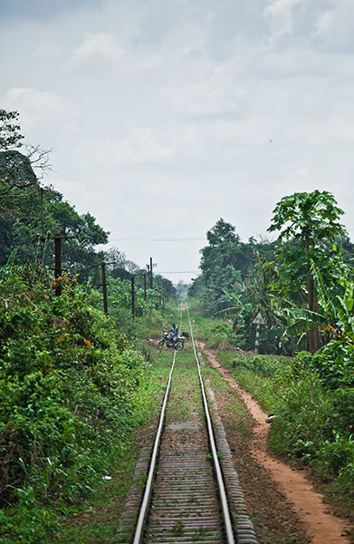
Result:
[[[142,537],[143,537],[145,520],[146,520],[146,517],[147,517],[147,514],[148,514],[148,506],[149,506],[149,502],[150,502],[150,498],[151,498],[152,484],[153,484],[153,481],[154,481],[154,472],[155,472],[156,464],[157,464],[157,461],[158,461],[158,447],[159,447],[159,443],[161,441],[161,434],[162,434],[162,430],[163,430],[164,423],[165,423],[166,407],[167,407],[169,391],[171,389],[172,373],[173,373],[173,369],[174,369],[175,363],[176,363],[176,353],[177,352],[175,351],[174,355],[173,355],[173,363],[172,363],[171,370],[170,370],[169,376],[168,376],[167,388],[166,388],[166,392],[165,392],[165,396],[164,396],[164,401],[162,403],[162,409],[161,409],[160,418],[159,418],[159,422],[158,422],[158,432],[156,433],[154,447],[153,447],[153,450],[152,450],[150,467],[149,467],[149,470],[148,470],[148,480],[147,480],[147,484],[146,484],[145,491],[144,491],[144,497],[143,497],[143,500],[141,502],[141,507],[140,507],[140,511],[139,511],[139,518],[138,518],[138,522],[137,522],[137,528],[135,529],[133,544],[140,544],[140,542],[142,541]]]

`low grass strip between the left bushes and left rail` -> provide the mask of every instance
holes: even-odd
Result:
[[[139,404],[132,414],[135,428],[124,444],[117,436],[120,449],[112,460],[109,474],[111,480],[103,481],[87,500],[72,506],[66,512],[65,521],[62,520],[62,532],[48,542],[112,544],[115,541],[120,512],[127,499],[140,448],[144,443],[152,442],[155,436],[171,361],[170,351],[157,354],[144,383],[139,384]]]

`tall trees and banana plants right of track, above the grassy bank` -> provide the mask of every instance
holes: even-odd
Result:
[[[263,353],[313,353],[347,337],[354,247],[338,222],[342,213],[326,191],[295,193],[274,209],[269,230],[280,231],[278,240],[246,244],[219,219],[206,233],[202,274],[189,295],[200,299],[206,316],[230,321],[229,342],[245,350],[254,349],[258,312],[266,323]]]

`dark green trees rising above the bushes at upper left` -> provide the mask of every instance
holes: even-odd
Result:
[[[62,243],[63,267],[87,279],[100,264],[103,254],[95,246],[108,241],[90,213],[79,215],[62,194],[51,187],[40,188],[31,162],[18,151],[0,153],[0,265],[5,265],[14,248],[18,263],[34,257],[53,267],[53,235],[69,235]],[[42,225],[43,203],[43,225]],[[38,235],[44,239],[39,240]]]

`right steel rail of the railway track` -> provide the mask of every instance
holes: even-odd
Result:
[[[190,317],[189,317],[189,309],[188,309],[187,301],[186,301],[186,309],[187,309],[187,319],[188,319],[188,323],[189,323],[190,334],[191,334],[191,338],[192,338],[193,350],[194,350],[194,354],[195,354],[195,357],[196,357],[196,366],[197,366],[197,369],[198,369],[200,387],[201,387],[201,390],[202,390],[204,409],[205,409],[205,413],[206,413],[206,426],[207,426],[207,431],[208,431],[208,436],[209,436],[210,449],[211,449],[212,456],[213,456],[215,475],[216,475],[216,480],[217,480],[217,485],[218,485],[218,490],[219,490],[219,496],[220,496],[220,500],[221,500],[222,512],[223,512],[223,516],[224,516],[226,541],[227,541],[227,544],[234,544],[234,529],[233,529],[233,524],[232,524],[231,517],[230,517],[229,507],[228,507],[228,504],[227,504],[224,478],[223,478],[223,474],[222,474],[222,471],[221,471],[220,462],[219,462],[219,459],[217,457],[217,450],[216,450],[216,445],[215,445],[215,437],[214,437],[214,432],[213,432],[213,426],[212,426],[212,422],[211,422],[211,418],[210,418],[209,409],[208,409],[208,406],[207,406],[206,390],[205,390],[205,387],[204,387],[202,374],[200,372],[199,359],[198,359],[198,356],[196,354],[196,343],[195,343],[195,339],[194,339],[194,335],[193,335],[192,324],[191,324]]]

